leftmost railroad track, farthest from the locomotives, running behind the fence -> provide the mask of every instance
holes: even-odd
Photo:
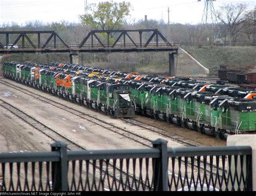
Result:
[[[46,135],[53,141],[61,141],[61,142],[68,144],[68,146],[67,146],[68,150],[88,150],[84,146],[80,145],[79,143],[72,141],[67,136],[60,134],[58,131],[56,131],[54,129],[51,129],[44,123],[38,121],[36,118],[30,116],[29,114],[25,113],[21,109],[18,109],[17,107],[13,106],[12,104],[10,104],[2,99],[0,99],[0,107],[5,108],[6,110],[10,111],[10,113],[21,118],[23,121],[25,121],[26,123],[31,125],[31,127],[42,132],[44,135]],[[103,160],[103,162],[106,164],[105,160]],[[90,164],[93,164],[93,162],[91,161]],[[129,176],[130,183],[132,183],[132,181],[134,181],[134,180],[136,180],[137,182],[141,181],[137,177],[134,178],[134,175],[124,172],[117,165],[113,165],[111,162],[109,162],[107,164],[112,166],[112,168],[116,169],[116,171],[120,172],[120,175],[122,173],[124,175]],[[102,166],[100,166],[99,164],[96,164],[96,168],[102,170]],[[115,180],[119,181],[118,174],[116,173],[116,171],[113,172],[112,168],[110,167],[107,169],[107,176],[110,176],[111,178],[114,178]],[[104,171],[104,170],[102,170],[102,171]],[[106,171],[104,171],[104,172],[106,172]],[[113,173],[115,173],[115,174],[113,174]],[[145,185],[145,183],[144,183],[144,185]],[[133,190],[136,190],[136,189],[133,188]]]

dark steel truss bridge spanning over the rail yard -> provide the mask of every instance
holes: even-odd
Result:
[[[169,52],[170,75],[174,75],[174,54],[178,53],[178,47],[157,29],[93,30],[79,44],[66,44],[55,31],[0,31],[0,36],[5,40],[0,54],[69,53],[71,63],[73,55],[84,52]],[[9,44],[18,48],[3,48]]]

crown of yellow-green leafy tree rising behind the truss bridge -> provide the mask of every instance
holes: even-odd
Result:
[[[93,29],[113,30],[119,29],[126,16],[129,15],[131,4],[129,2],[101,2],[98,5],[90,4],[92,13],[79,15],[80,23],[89,25]]]

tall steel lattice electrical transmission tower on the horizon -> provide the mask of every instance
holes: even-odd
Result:
[[[198,0],[201,1],[201,0]],[[217,16],[214,10],[213,2],[216,0],[205,0],[203,17],[201,20],[200,31],[208,32],[210,31],[209,27],[213,31],[214,43],[223,43],[221,40],[220,29],[218,25]]]

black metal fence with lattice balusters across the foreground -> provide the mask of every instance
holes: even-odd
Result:
[[[250,146],[0,153],[2,191],[251,191]]]

